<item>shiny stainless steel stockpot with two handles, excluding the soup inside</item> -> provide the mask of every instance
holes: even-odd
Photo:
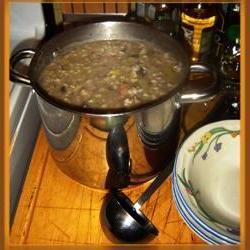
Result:
[[[168,51],[182,65],[176,88],[165,96],[135,108],[91,109],[59,102],[39,85],[43,68],[63,49],[77,42],[96,40],[145,40]],[[32,58],[29,74],[16,71],[18,62]],[[182,103],[204,101],[208,91],[182,93],[192,65],[182,47],[153,28],[128,22],[99,22],[63,32],[39,50],[22,50],[10,60],[10,78],[32,87],[37,95],[51,154],[58,167],[78,182],[98,189],[123,188],[147,181],[166,167],[175,155]],[[214,74],[214,73],[213,73]],[[213,83],[216,75],[213,75]]]

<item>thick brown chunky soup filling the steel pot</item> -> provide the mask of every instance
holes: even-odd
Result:
[[[178,83],[181,65],[144,41],[107,40],[75,44],[43,69],[39,83],[52,97],[89,108],[123,108],[166,95]]]

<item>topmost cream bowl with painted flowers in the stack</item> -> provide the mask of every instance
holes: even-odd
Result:
[[[240,121],[199,128],[182,144],[174,182],[187,210],[205,230],[239,241]]]

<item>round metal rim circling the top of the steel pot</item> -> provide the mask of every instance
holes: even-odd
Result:
[[[176,85],[176,87],[169,91],[167,94],[153,100],[153,101],[149,101],[149,102],[145,102],[145,103],[141,103],[138,105],[133,105],[131,107],[121,107],[121,108],[91,108],[91,107],[84,107],[84,106],[77,106],[77,105],[71,105],[68,104],[66,102],[63,102],[62,100],[59,100],[55,97],[52,97],[50,95],[48,95],[46,93],[46,91],[39,85],[38,81],[34,80],[34,79],[38,79],[37,76],[34,75],[34,71],[32,70],[33,68],[36,67],[37,63],[39,62],[39,60],[41,60],[42,56],[43,56],[43,50],[45,48],[47,48],[48,46],[51,46],[51,44],[55,43],[56,41],[58,41],[59,39],[63,39],[66,37],[70,37],[71,34],[75,34],[76,32],[83,32],[84,29],[87,28],[91,28],[92,26],[97,26],[97,25],[107,25],[108,23],[115,23],[115,25],[128,25],[131,26],[132,28],[134,27],[135,29],[146,29],[145,32],[152,32],[152,34],[154,36],[158,36],[159,39],[165,39],[166,42],[169,42],[171,46],[173,46],[173,50],[178,51],[179,54],[181,54],[181,56],[177,55],[177,52],[174,53],[173,51],[171,52],[171,55],[174,56],[175,58],[178,57],[182,60],[182,70],[180,72],[180,74],[182,74],[183,76],[180,77],[179,83]],[[117,40],[117,39],[111,39],[111,40]],[[124,39],[121,38],[121,40],[128,40],[128,39]],[[134,40],[138,40],[137,38],[135,38]],[[88,40],[87,40],[88,41]],[[147,39],[145,39],[144,41],[146,42],[151,42],[148,41]],[[84,40],[82,41],[84,43]],[[70,44],[70,43],[69,43]],[[72,44],[72,43],[71,43]],[[153,44],[155,46],[155,44]],[[68,45],[67,45],[68,46]],[[65,46],[66,47],[66,46]],[[165,50],[167,51],[167,50]],[[29,67],[29,76],[31,79],[31,85],[34,88],[35,92],[42,97],[44,100],[46,100],[48,103],[70,111],[70,112],[75,112],[75,113],[86,113],[88,115],[91,116],[114,116],[114,115],[123,115],[123,114],[130,114],[130,113],[134,113],[134,112],[140,112],[142,110],[145,109],[149,109],[152,108],[158,104],[163,103],[164,101],[168,100],[170,97],[174,96],[175,94],[177,94],[180,89],[182,88],[183,83],[185,82],[185,80],[187,80],[188,78],[188,72],[189,72],[189,66],[190,66],[190,62],[187,56],[187,53],[184,51],[184,48],[181,46],[181,44],[173,39],[171,36],[169,36],[166,33],[163,33],[151,26],[147,26],[145,24],[141,24],[141,23],[134,23],[134,22],[129,22],[129,21],[103,21],[103,22],[94,22],[94,23],[87,23],[84,25],[80,25],[77,27],[74,27],[72,29],[63,31],[57,35],[55,35],[54,37],[52,37],[50,40],[48,40],[46,43],[43,44],[43,46],[35,53],[34,57],[31,60],[30,63],[30,67]]]

